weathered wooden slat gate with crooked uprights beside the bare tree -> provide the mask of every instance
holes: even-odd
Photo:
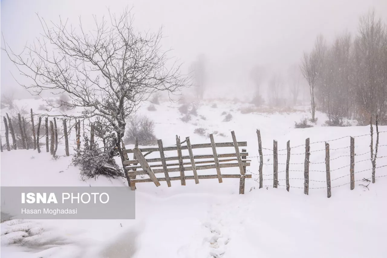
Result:
[[[132,160],[127,158],[123,162],[131,189],[135,190],[135,184],[140,182],[153,182],[156,186],[160,186],[160,181],[166,181],[170,187],[171,181],[180,181],[182,186],[185,186],[186,180],[195,180],[195,183],[199,184],[199,179],[218,179],[221,183],[223,178],[239,178],[239,193],[244,194],[245,178],[251,178],[251,174],[246,174],[246,167],[250,166],[248,163],[250,160],[246,160],[248,155],[246,149],[240,151],[239,147],[247,146],[247,142],[237,142],[234,131],[231,132],[231,136],[233,142],[229,143],[215,143],[214,136],[210,134],[211,143],[191,144],[189,137],[180,142],[180,137],[176,135],[176,146],[163,147],[163,142],[158,140],[158,148],[135,146],[132,150],[124,150],[126,154],[133,154]],[[184,143],[185,145],[182,145]],[[221,147],[232,147],[233,152],[217,154],[217,148]],[[212,154],[194,155],[192,150],[198,148],[211,148]],[[188,150],[188,155],[183,155],[182,150]],[[167,151],[176,151],[176,156],[165,157]],[[158,152],[159,157],[145,158],[154,152]],[[185,162],[185,160],[188,161]],[[238,168],[239,174],[221,174],[221,168],[230,167]],[[199,174],[202,170],[208,169],[215,169],[216,174]],[[187,171],[192,171],[193,175],[187,175]],[[180,175],[171,176],[170,173],[173,172],[180,172]],[[164,177],[157,177],[156,174],[163,174]]]

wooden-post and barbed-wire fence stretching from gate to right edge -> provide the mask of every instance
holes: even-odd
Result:
[[[258,173],[252,173],[254,175],[257,175],[258,178],[253,178],[253,180],[259,182],[259,188],[262,187],[274,187],[277,188],[279,186],[279,181],[285,181],[285,184],[281,184],[281,186],[285,186],[287,191],[291,187],[293,188],[300,188],[304,189],[305,194],[309,194],[309,189],[327,189],[327,197],[329,198],[331,196],[331,189],[335,187],[341,187],[349,185],[349,189],[353,190],[355,188],[356,182],[365,182],[363,184],[360,184],[360,186],[365,187],[368,189],[369,183],[375,183],[376,178],[380,177],[387,177],[386,174],[380,174],[378,176],[375,176],[377,170],[378,172],[386,172],[386,169],[381,169],[384,167],[387,167],[387,155],[378,156],[378,150],[381,147],[387,147],[387,144],[379,144],[379,137],[380,135],[387,135],[387,131],[378,131],[378,125],[376,123],[376,132],[373,132],[373,125],[370,125],[370,134],[363,134],[359,136],[344,136],[337,139],[332,139],[328,141],[316,141],[316,142],[310,142],[310,138],[307,138],[305,140],[305,144],[300,144],[294,147],[290,147],[290,141],[287,142],[287,148],[282,150],[277,150],[277,141],[273,141],[273,148],[263,148],[262,147],[262,139],[260,135],[260,130],[257,129],[257,137],[258,137],[258,156],[248,156],[247,158],[259,158],[259,169]],[[376,135],[376,141],[374,142],[374,135]],[[367,141],[366,136],[369,136],[370,142]],[[362,139],[361,139],[362,138]],[[331,148],[330,143],[334,144],[336,141],[342,141],[348,139],[348,145],[345,147],[339,147],[339,148]],[[355,139],[358,139],[359,143],[366,143],[366,144],[359,144],[355,146]],[[385,140],[384,140],[385,142]],[[311,150],[311,145],[316,146],[318,144],[325,144],[325,148],[317,148],[317,150]],[[355,152],[355,147],[358,147],[358,149],[361,150],[361,153]],[[293,153],[292,151],[298,148],[305,148],[305,151]],[[368,151],[364,151],[368,148]],[[349,149],[349,150],[348,150]],[[292,150],[292,151],[291,151]],[[263,153],[263,151],[267,151],[267,154]],[[331,158],[332,152],[331,151],[337,151],[340,152],[337,157]],[[321,153],[321,154],[319,154]],[[325,155],[322,155],[324,153]],[[311,154],[313,154],[314,157],[322,156],[321,158],[325,157],[324,160],[315,161],[310,160]],[[361,158],[362,156],[370,155],[369,158]],[[269,159],[272,157],[272,163],[266,163],[264,162],[264,157],[268,157]],[[286,156],[286,162],[279,162],[279,157],[281,160],[285,160]],[[342,164],[343,157],[347,157],[348,162],[346,165]],[[301,162],[301,159],[304,158],[303,162]],[[291,163],[291,160],[299,160],[300,162],[297,163]],[[340,160],[341,159],[341,160]],[[331,169],[332,164],[331,162],[334,162],[336,164],[339,164],[339,167]],[[368,163],[367,163],[368,162]],[[359,163],[358,165],[356,165]],[[378,163],[378,166],[377,166]],[[325,164],[325,170],[320,169],[310,169],[310,166],[323,166]],[[284,166],[285,170],[278,171],[278,167]],[[270,168],[272,166],[272,168]],[[303,169],[292,169],[290,170],[290,167],[299,167],[301,168],[303,166]],[[356,170],[356,168],[359,167],[359,170]],[[271,170],[271,174],[264,174],[264,169]],[[279,173],[285,173],[284,178],[278,179]],[[334,172],[334,175],[338,174],[336,177],[331,179],[331,174]],[[366,175],[364,173],[371,172],[370,174]],[[291,174],[301,174],[303,173],[303,177],[289,177],[289,173]],[[323,174],[324,173],[324,178]],[[356,175],[362,176],[359,179],[355,179]],[[269,179],[267,177],[272,177],[272,179]],[[348,179],[347,179],[348,178]],[[264,185],[264,181],[272,180],[273,184],[272,186]],[[300,184],[295,184],[294,186],[291,186],[289,181],[301,181],[303,180],[303,187],[300,186]],[[343,181],[346,180],[346,181]],[[332,182],[340,181],[339,184],[335,186],[331,186]],[[310,183],[313,183],[313,186],[310,187]],[[324,183],[325,186],[318,186],[314,187],[315,183]],[[368,184],[367,184],[368,183]],[[321,184],[320,184],[321,185]]]

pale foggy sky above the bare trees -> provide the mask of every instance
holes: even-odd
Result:
[[[109,3],[107,5],[107,3]],[[329,41],[348,29],[356,32],[359,17],[375,9],[387,18],[387,0],[1,0],[0,31],[15,52],[41,32],[36,12],[46,21],[89,19],[133,7],[139,31],[163,26],[163,48],[184,63],[183,72],[200,53],[209,62],[209,84],[245,87],[253,65],[283,70],[300,61],[322,33]],[[3,42],[1,41],[1,45]],[[0,52],[0,94],[18,88],[17,72]]]

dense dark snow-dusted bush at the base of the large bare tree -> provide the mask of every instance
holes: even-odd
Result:
[[[87,137],[84,139],[84,147],[79,151],[75,151],[72,158],[72,165],[78,167],[82,179],[98,177],[98,175],[106,175],[107,177],[123,176],[123,172],[119,169],[114,160],[114,148],[110,147],[107,152],[103,152],[94,144],[90,148]]]

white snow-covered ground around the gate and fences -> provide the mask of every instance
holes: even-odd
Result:
[[[217,103],[217,107],[211,107]],[[38,113],[39,100],[15,103]],[[322,127],[324,114],[317,113],[313,128],[294,129],[295,121],[308,117],[307,109],[242,114],[248,105],[227,101],[198,103],[199,116],[190,122],[180,120],[177,103],[163,102],[157,110],[140,108],[155,121],[158,139],[164,146],[175,144],[175,135],[190,136],[191,143],[209,143],[205,136],[194,134],[202,127],[217,131],[215,141],[247,141],[248,172],[246,193],[238,194],[239,180],[187,181],[172,187],[161,182],[137,184],[135,220],[11,220],[0,224],[0,257],[12,258],[236,258],[236,257],[385,257],[387,242],[387,177],[377,177],[369,190],[360,184],[370,178],[370,136],[365,127]],[[3,116],[7,110],[0,110]],[[265,112],[263,112],[265,111]],[[223,112],[233,115],[223,122]],[[259,113],[262,112],[262,113]],[[243,112],[245,113],[245,112]],[[200,117],[202,115],[203,117]],[[205,118],[205,119],[204,119]],[[2,128],[0,128],[1,130]],[[264,150],[264,188],[258,189],[259,158],[256,129],[260,129],[264,148],[272,149],[278,141],[279,188],[272,188],[272,152]],[[387,175],[387,127],[380,126],[377,176]],[[219,136],[223,133],[225,136]],[[348,137],[345,137],[348,136]],[[355,138],[355,189],[349,189],[349,136]],[[310,190],[303,194],[305,138],[312,143]],[[329,141],[338,139],[336,141]],[[299,146],[291,150],[290,191],[286,191],[286,142]],[[330,143],[332,197],[326,197],[325,144]],[[74,143],[74,139],[71,139]],[[64,154],[63,146],[58,155]],[[132,146],[128,145],[127,148]],[[195,150],[194,150],[195,153]],[[298,155],[300,153],[300,155]],[[364,160],[363,162],[360,162]],[[71,157],[53,160],[43,151],[4,151],[0,153],[1,186],[127,186],[123,179],[81,181],[79,170],[69,166]],[[299,164],[298,164],[299,163]],[[342,168],[341,168],[342,167]],[[236,170],[236,171],[235,171]],[[363,171],[365,170],[365,171]],[[225,170],[228,171],[228,170]],[[238,169],[230,169],[237,173]],[[362,172],[361,172],[362,171]],[[216,172],[214,172],[216,173]],[[187,172],[188,174],[188,172]],[[342,185],[342,186],[341,186]],[[267,186],[267,187],[266,187]],[[26,233],[27,232],[27,233]],[[17,243],[17,244],[13,244]]]

